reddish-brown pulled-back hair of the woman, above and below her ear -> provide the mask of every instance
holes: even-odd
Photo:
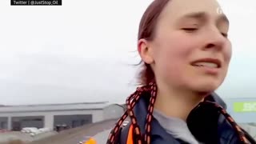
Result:
[[[154,0],[154,2],[147,7],[139,24],[138,40],[144,38],[147,41],[152,41],[154,39],[154,30],[158,22],[158,17],[169,1],[170,0]],[[139,84],[148,85],[154,80],[154,72],[149,64],[142,61],[140,64],[142,64],[142,70],[138,75]]]

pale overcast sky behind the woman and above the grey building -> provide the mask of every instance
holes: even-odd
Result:
[[[125,102],[139,62],[138,22],[152,0],[0,1],[0,104]],[[219,0],[233,58],[223,98],[256,98],[256,1]]]

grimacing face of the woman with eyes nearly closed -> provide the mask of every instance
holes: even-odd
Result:
[[[154,40],[146,47],[157,82],[210,92],[226,77],[231,44],[229,22],[215,0],[171,0],[158,18]]]

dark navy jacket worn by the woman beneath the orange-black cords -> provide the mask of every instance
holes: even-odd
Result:
[[[145,134],[147,106],[150,101],[149,98],[150,97],[148,96],[142,96],[134,107],[134,114],[142,134]],[[223,102],[222,98],[219,98],[217,94],[211,94],[206,99],[211,102],[217,102],[226,109],[225,102]],[[191,133],[199,142],[206,144],[239,144],[238,134],[236,134],[233,127],[230,126],[230,123],[226,121],[226,118],[213,106],[203,105],[192,110],[187,118],[187,125],[189,126]],[[175,139],[172,135],[166,133],[166,130],[160,126],[155,118],[153,119],[151,126],[151,144],[186,143],[179,139]],[[130,123],[121,130],[119,137],[120,144],[126,144],[129,128]]]

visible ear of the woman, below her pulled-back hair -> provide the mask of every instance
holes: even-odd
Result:
[[[150,47],[150,44],[146,39],[138,40],[138,54],[141,56],[143,62],[146,62],[147,64],[154,62],[152,47]]]

